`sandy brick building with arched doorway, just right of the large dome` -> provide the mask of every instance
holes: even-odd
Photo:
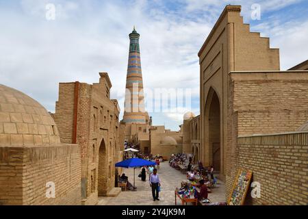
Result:
[[[62,142],[78,144],[81,152],[82,204],[94,205],[98,196],[114,196],[114,164],[123,157],[118,116],[120,108],[110,99],[112,83],[100,73],[99,83],[60,83],[55,123]]]

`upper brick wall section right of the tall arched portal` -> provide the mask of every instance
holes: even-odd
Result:
[[[302,75],[231,73],[238,135],[295,131],[303,125],[308,120],[308,74]]]

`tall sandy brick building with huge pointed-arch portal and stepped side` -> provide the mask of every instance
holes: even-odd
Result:
[[[248,203],[308,203],[308,71],[281,71],[279,50],[249,30],[241,7],[227,5],[198,53],[201,160],[226,182],[253,170],[261,198]],[[218,153],[218,155],[217,155]]]

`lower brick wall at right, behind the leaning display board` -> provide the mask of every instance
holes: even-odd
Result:
[[[248,193],[246,204],[308,205],[308,132],[238,138],[235,153],[234,168],[261,184],[261,198]]]

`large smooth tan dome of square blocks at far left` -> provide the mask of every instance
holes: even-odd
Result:
[[[58,143],[59,132],[49,112],[23,92],[0,84],[0,145]]]

